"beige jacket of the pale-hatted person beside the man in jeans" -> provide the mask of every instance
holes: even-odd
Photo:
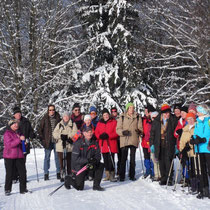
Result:
[[[56,152],[63,152],[63,141],[61,139],[61,134],[67,135],[68,138],[72,138],[77,132],[77,126],[72,120],[69,120],[68,124],[65,126],[63,120],[61,120],[55,127],[53,131],[53,137],[56,140]],[[71,152],[73,144],[66,142],[66,152]]]

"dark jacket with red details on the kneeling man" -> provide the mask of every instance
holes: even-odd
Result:
[[[91,139],[89,144],[85,141],[84,137],[78,139],[74,143],[71,156],[71,167],[73,172],[79,171],[83,166],[88,163],[90,158],[95,158],[97,163],[101,160],[101,153],[99,145],[95,139]]]

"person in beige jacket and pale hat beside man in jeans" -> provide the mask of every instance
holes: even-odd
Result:
[[[61,182],[64,181],[65,175],[70,175],[71,173],[71,152],[73,148],[72,137],[77,132],[77,126],[70,119],[69,112],[65,111],[62,116],[63,119],[56,125],[53,131],[53,137],[56,142],[56,152],[60,163]],[[64,149],[66,149],[66,154],[63,154]],[[66,171],[64,169],[63,161],[66,161],[65,165],[67,166],[67,174],[65,174]]]

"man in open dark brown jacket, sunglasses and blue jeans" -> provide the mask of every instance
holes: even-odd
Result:
[[[55,149],[55,139],[52,136],[52,132],[56,125],[61,121],[60,115],[55,111],[54,105],[48,106],[47,114],[42,118],[39,128],[39,137],[42,141],[42,145],[45,148],[44,157],[44,180],[49,180],[49,169],[50,169],[50,155],[52,150],[54,150],[55,165],[57,172],[57,179],[60,179],[60,164],[58,160],[58,155]]]

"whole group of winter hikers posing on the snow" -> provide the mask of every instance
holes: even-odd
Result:
[[[30,122],[18,107],[14,108],[13,116],[4,134],[6,195],[11,193],[14,171],[19,177],[20,193],[28,191],[25,167],[28,152],[23,154],[22,142],[29,151],[30,140],[35,137]],[[75,103],[72,113],[64,111],[60,116],[55,106],[49,105],[40,122],[38,137],[45,151],[44,180],[50,178],[50,156],[54,151],[57,179],[64,182],[66,189],[73,186],[83,190],[88,179],[93,180],[93,190],[103,191],[100,183],[104,168],[104,181],[125,181],[126,168],[129,179],[135,181],[136,149],[141,144],[146,169],[144,178],[150,176],[160,185],[173,185],[173,162],[178,157],[184,185],[192,192],[198,192],[198,198],[209,197],[210,118],[207,105],[175,104],[172,110],[168,104],[163,104],[159,112],[148,105],[141,117],[130,102],[121,115],[116,107],[110,111],[104,108],[101,118],[94,106],[84,115],[80,104]],[[115,154],[118,157],[116,165]]]

